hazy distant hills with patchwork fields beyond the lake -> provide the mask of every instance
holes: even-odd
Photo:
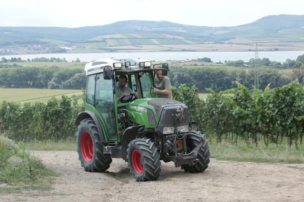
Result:
[[[276,43],[302,47],[304,15],[270,15],[235,27],[144,20],[79,28],[0,27],[0,47],[65,44],[96,50],[200,50],[203,44],[254,45],[257,42],[266,46]]]

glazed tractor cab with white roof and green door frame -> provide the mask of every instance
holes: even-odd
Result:
[[[103,123],[102,125],[105,126],[103,133],[107,141],[121,141],[119,134],[134,124],[132,114],[127,111],[132,101],[156,98],[151,91],[156,67],[161,67],[160,69],[167,75],[168,63],[152,66],[150,61],[140,59],[111,58],[86,64],[85,72],[88,80],[85,110],[93,111]],[[126,87],[132,91],[132,94],[128,98],[117,100],[123,96],[119,90],[119,77],[127,78]],[[135,94],[138,98],[135,98]]]

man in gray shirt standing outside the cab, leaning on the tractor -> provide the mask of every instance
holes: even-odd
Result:
[[[170,79],[162,75],[162,70],[155,71],[154,86],[152,92],[156,93],[157,98],[172,99]]]

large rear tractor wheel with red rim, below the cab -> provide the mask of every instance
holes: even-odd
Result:
[[[110,154],[103,154],[104,146],[94,120],[82,120],[77,131],[77,152],[85,171],[104,172],[110,167],[112,158]]]

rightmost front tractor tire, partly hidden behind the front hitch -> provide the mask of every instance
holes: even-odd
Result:
[[[189,173],[201,173],[208,168],[208,164],[210,162],[210,151],[208,141],[205,137],[203,137],[201,132],[191,131],[190,135],[186,138],[187,143],[187,151],[190,152],[193,150],[197,145],[201,143],[202,138],[204,144],[203,147],[199,150],[197,159],[199,160],[196,164],[189,166],[189,165],[181,165],[181,168],[185,172]]]

